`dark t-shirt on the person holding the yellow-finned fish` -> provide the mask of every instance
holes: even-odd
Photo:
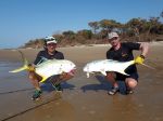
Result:
[[[43,50],[43,51],[40,51],[38,54],[37,54],[37,57],[34,62],[35,65],[37,64],[40,64],[43,62],[43,59],[64,59],[64,55],[62,52],[59,52],[59,51],[54,51],[53,52],[53,55],[50,55],[48,54],[48,51],[47,50]]]

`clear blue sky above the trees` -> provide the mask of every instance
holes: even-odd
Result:
[[[62,31],[90,29],[88,23],[159,16],[163,0],[0,0],[0,49]]]

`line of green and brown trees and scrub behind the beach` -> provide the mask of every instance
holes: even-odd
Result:
[[[116,31],[123,41],[163,41],[163,12],[156,17],[131,18],[122,24],[114,19],[101,19],[89,22],[90,29],[78,31],[67,30],[62,33],[53,33],[58,39],[59,45],[79,45],[105,43],[108,33]],[[29,40],[21,48],[42,48],[43,39]]]

